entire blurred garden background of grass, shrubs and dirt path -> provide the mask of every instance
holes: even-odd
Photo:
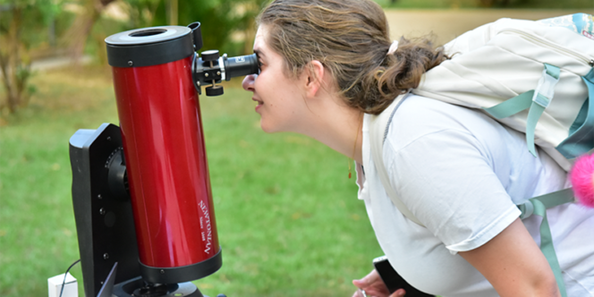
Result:
[[[268,0],[0,0],[0,296],[47,296],[79,258],[68,140],[118,124],[103,40],[202,23],[204,48],[251,53]],[[445,43],[500,17],[594,13],[592,0],[377,0],[391,36]],[[200,98],[223,267],[205,295],[350,296],[382,255],[352,162],[307,137],[260,130],[241,79]],[[80,264],[71,273],[84,280]]]

